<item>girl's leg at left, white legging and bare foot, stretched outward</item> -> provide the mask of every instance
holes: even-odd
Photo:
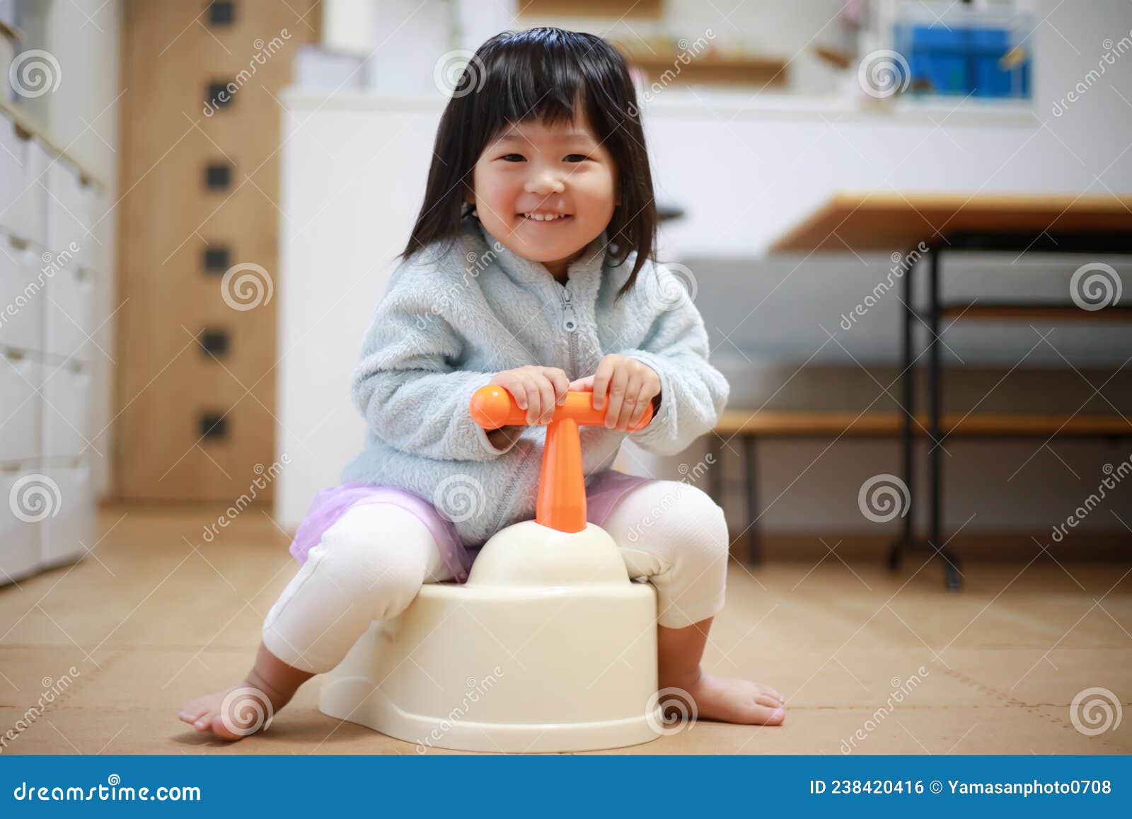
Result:
[[[178,716],[225,740],[266,727],[302,683],[342,660],[371,621],[397,616],[421,583],[451,579],[414,514],[391,504],[354,506],[324,532],[272,606],[248,675]]]

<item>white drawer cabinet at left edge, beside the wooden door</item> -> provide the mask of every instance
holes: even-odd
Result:
[[[0,586],[93,546],[98,205],[69,160],[0,111]]]

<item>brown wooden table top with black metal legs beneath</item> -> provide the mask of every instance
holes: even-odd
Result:
[[[835,194],[772,246],[772,253],[908,250],[964,231],[1126,230],[1132,196],[1036,194]]]

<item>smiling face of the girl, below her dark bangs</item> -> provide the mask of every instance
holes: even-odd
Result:
[[[620,204],[612,156],[583,106],[575,111],[573,125],[532,120],[504,129],[475,162],[469,196],[491,236],[559,280]]]

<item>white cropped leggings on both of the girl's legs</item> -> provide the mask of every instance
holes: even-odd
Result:
[[[728,534],[723,511],[680,481],[642,484],[602,527],[629,578],[657,589],[660,625],[680,629],[723,607]],[[436,540],[400,506],[353,506],[311,547],[264,621],[264,645],[288,665],[334,668],[374,620],[401,614],[421,583],[452,580]]]

